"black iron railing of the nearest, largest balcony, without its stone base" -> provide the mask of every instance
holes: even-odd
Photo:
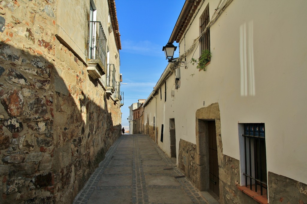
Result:
[[[100,60],[106,66],[107,38],[100,21],[88,21],[87,50],[88,59]]]

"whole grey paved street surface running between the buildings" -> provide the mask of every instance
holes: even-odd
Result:
[[[148,135],[122,135],[73,203],[185,204],[212,200],[210,196],[205,199],[206,194],[181,176],[176,162]]]

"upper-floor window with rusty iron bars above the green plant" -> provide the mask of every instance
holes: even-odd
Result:
[[[199,19],[200,23],[200,34],[205,30],[206,26],[210,21],[209,17],[209,4],[204,10],[204,13],[201,15]],[[204,35],[199,39],[200,41],[200,54],[203,50],[210,50],[210,29],[208,28]]]

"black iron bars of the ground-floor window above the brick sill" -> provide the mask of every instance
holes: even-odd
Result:
[[[264,123],[244,124],[245,186],[267,196]]]

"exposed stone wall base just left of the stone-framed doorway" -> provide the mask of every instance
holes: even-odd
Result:
[[[195,160],[196,155],[196,144],[180,139],[178,167],[193,184],[197,184],[198,182],[198,165]]]

